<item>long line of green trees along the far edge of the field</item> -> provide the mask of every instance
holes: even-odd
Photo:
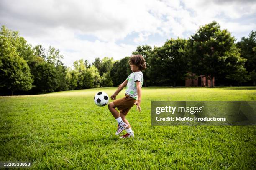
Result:
[[[256,81],[256,31],[235,42],[228,30],[212,23],[200,26],[188,40],[167,39],[161,47],[139,45],[133,55],[146,60],[144,86],[173,86],[180,80],[205,75],[211,82],[219,77],[238,85]],[[17,31],[2,26],[0,32],[0,94],[40,94],[95,87],[113,87],[131,73],[129,56],[94,62],[77,60],[66,67],[59,49],[32,47]],[[208,81],[206,81],[208,82]],[[212,83],[211,83],[212,85]]]

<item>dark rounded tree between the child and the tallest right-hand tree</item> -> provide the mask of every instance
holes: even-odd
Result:
[[[152,80],[161,84],[173,82],[173,87],[176,87],[177,80],[184,80],[187,77],[185,44],[184,39],[170,39],[162,47],[154,48],[150,60]]]

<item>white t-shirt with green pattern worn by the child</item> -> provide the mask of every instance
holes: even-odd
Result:
[[[126,85],[126,91],[125,94],[133,97],[134,99],[137,100],[138,98],[138,94],[137,94],[137,88],[136,88],[136,82],[135,81],[139,81],[141,82],[141,87],[143,84],[143,74],[141,71],[138,72],[132,72],[127,79],[127,85]]]

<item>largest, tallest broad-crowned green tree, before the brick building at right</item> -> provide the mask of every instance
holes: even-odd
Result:
[[[189,38],[186,49],[190,71],[209,76],[211,87],[215,76],[234,73],[246,61],[240,57],[235,38],[228,30],[220,30],[215,21],[200,27]]]

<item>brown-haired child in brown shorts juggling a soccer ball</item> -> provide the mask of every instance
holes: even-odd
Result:
[[[122,84],[119,85],[118,89],[110,97],[114,101],[108,104],[108,109],[118,122],[118,130],[115,132],[115,135],[119,135],[123,130],[126,129],[127,133],[121,136],[120,138],[134,137],[131,125],[125,116],[131,109],[131,107],[133,107],[133,105],[137,105],[137,110],[141,111],[141,87],[143,84],[143,74],[141,70],[146,69],[146,62],[142,55],[133,55],[131,56],[129,63],[132,73],[127,77],[127,79]],[[118,93],[125,86],[125,97],[115,100]],[[115,109],[115,107],[118,108],[120,114]]]

